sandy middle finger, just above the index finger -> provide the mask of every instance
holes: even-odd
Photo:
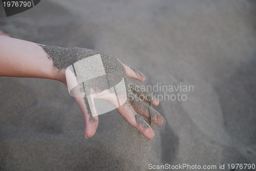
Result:
[[[135,94],[131,96],[133,96],[133,99],[130,100],[130,103],[136,113],[144,116],[147,119],[151,119],[152,122],[158,125],[162,125],[164,123],[164,118],[162,117],[162,115],[160,115],[154,108],[152,108],[151,105],[148,105],[147,103],[142,101]]]

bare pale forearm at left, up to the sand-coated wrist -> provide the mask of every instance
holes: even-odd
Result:
[[[59,72],[37,44],[0,36],[0,76],[48,78],[63,82]]]

